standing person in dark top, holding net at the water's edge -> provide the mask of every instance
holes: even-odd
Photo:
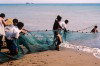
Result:
[[[60,35],[62,27],[59,24],[61,19],[62,17],[58,15],[53,25],[54,45],[55,45],[55,50],[58,50],[58,51],[59,51],[59,45],[62,43],[62,38]]]

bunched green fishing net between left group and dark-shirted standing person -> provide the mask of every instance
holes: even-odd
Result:
[[[27,52],[32,53],[55,49],[52,31],[34,31],[21,34],[15,42],[18,47],[18,54],[10,56],[7,52],[0,52],[0,62],[19,59]]]

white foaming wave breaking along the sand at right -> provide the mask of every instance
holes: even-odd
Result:
[[[100,49],[99,48],[91,48],[87,46],[73,45],[73,44],[70,44],[69,42],[64,42],[60,46],[92,53],[96,58],[100,59]]]

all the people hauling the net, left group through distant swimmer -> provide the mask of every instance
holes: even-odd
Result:
[[[57,16],[53,25],[53,32],[54,32],[54,44],[56,46],[56,50],[59,51],[59,45],[63,42],[61,31],[63,30],[64,33],[67,32],[66,26],[68,24],[68,20],[61,21],[62,17],[60,15]],[[9,54],[16,55],[18,54],[18,46],[17,40],[21,36],[20,33],[26,33],[27,30],[23,29],[24,23],[19,22],[18,19],[6,19],[5,14],[0,14],[0,52],[1,47],[3,45],[3,39],[5,37],[7,48],[9,49]],[[98,32],[97,26],[95,26],[92,30],[92,33]],[[21,43],[21,42],[20,42]],[[29,50],[30,48],[25,44],[24,46]]]

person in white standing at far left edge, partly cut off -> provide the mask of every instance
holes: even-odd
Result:
[[[1,51],[1,46],[3,44],[3,36],[5,36],[5,31],[4,31],[4,18],[5,18],[5,14],[1,13],[0,14],[0,51]]]

